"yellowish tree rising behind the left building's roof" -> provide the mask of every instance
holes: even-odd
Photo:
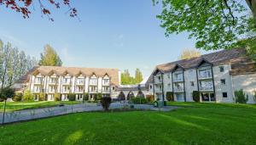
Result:
[[[54,48],[47,44],[44,47],[44,53],[41,53],[41,60],[39,65],[45,66],[61,66],[62,61],[59,55],[55,52]]]

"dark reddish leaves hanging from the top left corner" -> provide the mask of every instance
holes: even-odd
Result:
[[[66,5],[68,8],[67,13],[69,13],[70,17],[77,17],[78,18],[78,12],[76,8],[73,8],[70,5],[70,0],[60,0],[56,2],[55,0],[38,0],[38,5],[41,10],[42,17],[43,15],[46,15],[49,20],[53,20],[53,18],[50,17],[50,11],[49,8],[46,8],[45,5],[51,4],[55,8],[61,8],[61,4]],[[14,10],[17,13],[21,13],[24,19],[28,19],[29,15],[32,13],[30,8],[34,8],[34,4],[36,3],[35,0],[0,0],[0,6],[10,8],[11,10]],[[61,2],[61,3],[60,3]]]

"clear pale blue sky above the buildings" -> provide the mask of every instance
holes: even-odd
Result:
[[[35,1],[37,2],[37,1]],[[78,19],[67,7],[48,7],[54,22],[41,17],[37,3],[30,19],[0,6],[0,39],[39,59],[45,44],[55,48],[64,66],[128,69],[148,76],[155,65],[177,60],[183,48],[194,48],[188,33],[166,37],[160,27],[160,5],[152,0],[73,0]],[[202,51],[202,53],[207,53]]]

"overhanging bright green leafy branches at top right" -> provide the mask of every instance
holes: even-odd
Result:
[[[159,3],[159,0],[153,0]],[[195,47],[205,50],[236,47],[236,42],[256,28],[256,0],[161,0],[163,10],[157,16],[166,36],[188,31],[195,37]],[[253,25],[253,29],[252,29]]]

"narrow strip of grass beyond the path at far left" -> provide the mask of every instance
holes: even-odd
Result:
[[[39,109],[39,108],[47,108],[47,107],[53,107],[63,104],[75,104],[75,103],[81,103],[78,101],[40,101],[40,102],[8,102],[6,105],[6,111],[15,111],[15,110],[21,110],[21,109]],[[0,112],[3,112],[3,105],[4,102],[0,103]]]

